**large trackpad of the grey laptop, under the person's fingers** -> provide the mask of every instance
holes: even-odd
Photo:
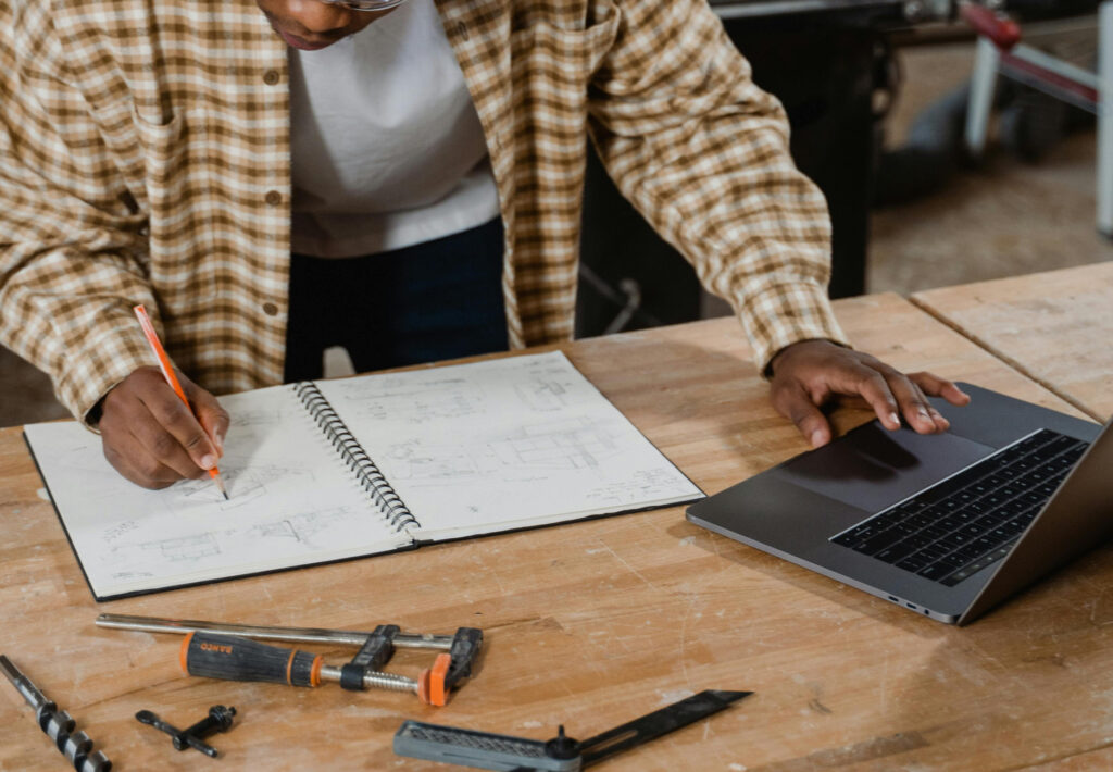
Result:
[[[876,512],[991,455],[953,432],[888,431],[877,421],[800,456],[779,471],[801,488]]]

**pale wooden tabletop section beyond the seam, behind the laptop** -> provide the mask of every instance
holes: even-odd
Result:
[[[1113,263],[928,290],[913,302],[1094,420],[1113,413]]]

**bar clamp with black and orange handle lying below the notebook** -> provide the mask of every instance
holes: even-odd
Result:
[[[181,662],[187,673],[230,681],[265,681],[290,686],[317,686],[333,681],[352,691],[385,688],[413,692],[430,705],[447,703],[451,691],[472,674],[472,665],[483,646],[483,631],[460,627],[455,635],[403,633],[397,625],[378,625],[371,633],[317,627],[260,627],[197,619],[161,619],[124,614],[101,614],[99,627],[180,633]],[[322,663],[321,655],[278,648],[249,641],[345,644],[359,651],[347,664]],[[433,666],[410,678],[380,670],[395,648],[433,648],[439,654]]]

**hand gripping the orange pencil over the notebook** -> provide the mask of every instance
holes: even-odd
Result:
[[[216,398],[178,373],[197,417],[178,399],[158,368],[139,368],[101,402],[105,458],[144,488],[199,478],[224,453],[228,413]]]

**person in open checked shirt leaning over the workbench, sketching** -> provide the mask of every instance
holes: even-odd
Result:
[[[201,476],[213,393],[329,341],[366,370],[569,339],[589,134],[814,446],[834,394],[922,432],[925,392],[966,400],[845,345],[824,201],[706,0],[0,2],[0,338],[139,485]]]

